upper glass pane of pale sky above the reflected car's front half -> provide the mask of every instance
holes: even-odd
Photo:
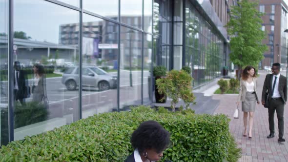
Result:
[[[83,9],[118,20],[119,0],[82,0]]]

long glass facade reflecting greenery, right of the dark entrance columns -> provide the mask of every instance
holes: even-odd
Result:
[[[224,47],[217,31],[211,29],[190,1],[186,3],[185,42],[189,50],[185,49],[185,64],[191,67],[193,86],[197,86],[221,75]]]

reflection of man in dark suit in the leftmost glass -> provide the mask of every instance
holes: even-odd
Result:
[[[25,104],[24,99],[28,97],[28,82],[25,72],[21,70],[19,61],[14,62],[14,100]]]

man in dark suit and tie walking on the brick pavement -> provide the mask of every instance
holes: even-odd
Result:
[[[273,138],[275,135],[274,130],[274,114],[275,110],[278,118],[279,139],[278,142],[285,142],[284,135],[284,105],[287,101],[287,79],[280,74],[280,63],[273,63],[271,68],[272,74],[267,74],[262,91],[262,104],[265,103],[265,94],[268,90],[269,94],[269,107],[268,119],[270,134],[268,139]]]

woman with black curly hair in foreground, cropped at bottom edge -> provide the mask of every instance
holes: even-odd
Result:
[[[132,133],[134,152],[124,162],[157,162],[170,143],[170,134],[157,121],[144,121]]]

